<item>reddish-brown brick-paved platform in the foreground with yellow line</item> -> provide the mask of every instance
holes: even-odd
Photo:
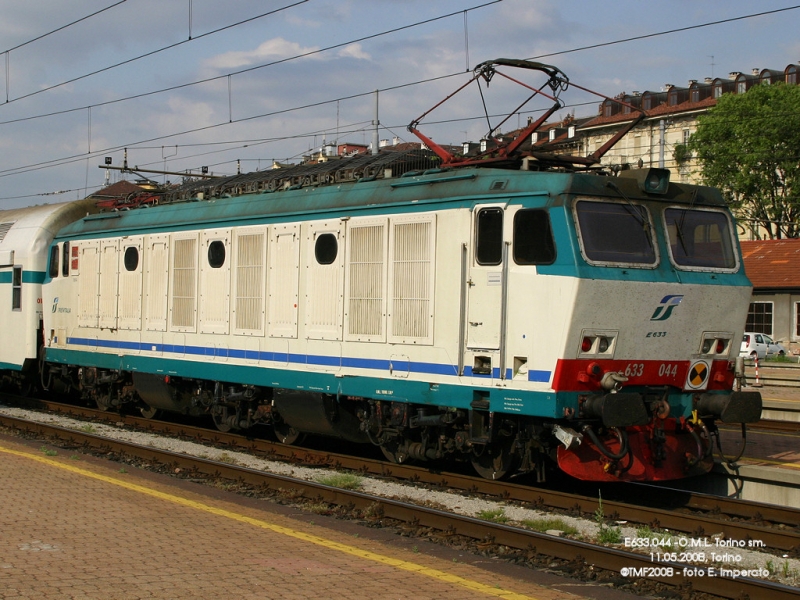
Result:
[[[0,598],[633,598],[0,435]],[[128,469],[126,472],[125,469]]]

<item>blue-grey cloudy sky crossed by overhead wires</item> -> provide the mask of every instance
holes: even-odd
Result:
[[[800,63],[790,0],[0,0],[0,14],[0,210],[135,180],[102,168],[125,148],[131,167],[232,175],[369,144],[376,96],[380,138],[418,141],[408,124],[496,58],[554,65],[605,96]],[[420,131],[477,142],[529,95],[497,76],[481,91]],[[601,100],[574,86],[560,98],[557,118]]]

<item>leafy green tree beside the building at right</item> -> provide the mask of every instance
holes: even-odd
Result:
[[[699,117],[689,150],[757,239],[800,237],[800,86],[720,96]]]

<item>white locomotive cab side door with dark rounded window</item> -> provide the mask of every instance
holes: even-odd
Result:
[[[473,251],[467,256],[469,350],[499,350],[503,319],[504,206],[484,205],[473,212]]]

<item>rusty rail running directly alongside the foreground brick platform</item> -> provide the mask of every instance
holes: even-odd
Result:
[[[118,417],[119,418],[119,417]],[[130,417],[126,417],[129,419]],[[401,523],[401,527],[415,531],[433,531],[433,537],[448,538],[464,536],[472,539],[484,549],[504,548],[500,554],[509,549],[521,557],[532,559],[535,556],[566,561],[569,564],[583,565],[590,571],[603,569],[623,577],[641,573],[648,581],[659,582],[669,586],[691,587],[697,592],[704,592],[722,598],[741,598],[748,594],[750,598],[769,597],[776,600],[797,598],[800,592],[793,588],[772,581],[752,577],[706,577],[707,567],[686,564],[674,560],[654,562],[649,554],[632,552],[618,547],[607,547],[585,541],[573,540],[555,535],[538,533],[483,519],[453,514],[447,511],[409,504],[395,499],[372,496],[362,492],[344,490],[306,480],[294,479],[260,470],[253,470],[226,462],[212,461],[204,458],[178,454],[161,450],[152,446],[142,446],[111,440],[92,433],[66,429],[57,425],[34,423],[31,421],[2,417],[2,425],[27,434],[43,436],[70,447],[94,449],[104,453],[115,453],[126,457],[135,457],[148,463],[169,465],[171,469],[181,469],[192,478],[226,479],[252,486],[266,492],[269,490],[288,491],[293,497],[312,499],[315,502],[327,502],[339,506],[348,506],[361,514],[373,515],[374,519],[389,520]],[[178,431],[176,431],[178,433]],[[181,435],[195,435],[180,428]],[[218,434],[206,431],[207,438],[219,437]],[[231,440],[232,442],[233,440]],[[217,439],[217,443],[221,440]],[[241,443],[231,443],[237,448]],[[297,460],[318,460],[312,458],[303,449],[290,449]],[[339,457],[332,457],[338,462]],[[330,462],[330,461],[329,461]],[[383,465],[384,469],[393,470],[396,465]],[[384,473],[386,474],[386,473]],[[449,484],[451,476],[440,474],[441,484]],[[491,483],[491,482],[490,482]],[[510,495],[515,495],[516,487],[512,486]],[[495,488],[497,491],[497,488]],[[537,491],[537,490],[535,490]],[[430,533],[428,533],[430,536]],[[760,535],[760,534],[759,534]],[[620,578],[617,578],[619,583]],[[614,580],[614,577],[611,577]],[[623,578],[621,581],[630,582]]]

